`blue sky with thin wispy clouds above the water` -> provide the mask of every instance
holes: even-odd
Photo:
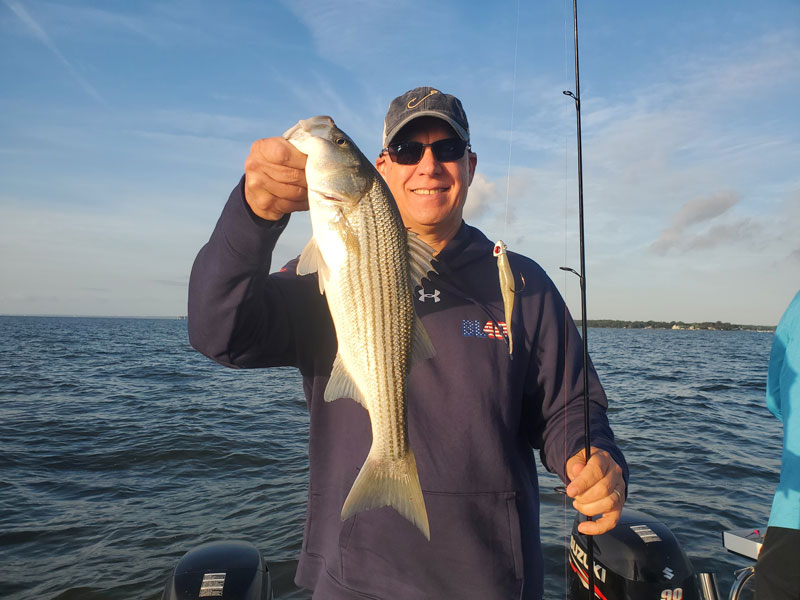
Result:
[[[756,6],[756,4],[758,4]],[[775,325],[800,289],[800,2],[581,2],[590,319]],[[181,316],[251,143],[466,109],[465,220],[580,315],[572,3],[0,0],[0,314]],[[293,215],[273,268],[300,252]]]

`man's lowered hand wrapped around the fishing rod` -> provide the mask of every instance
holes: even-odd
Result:
[[[592,457],[584,464],[581,450],[567,461],[567,496],[575,510],[588,516],[602,515],[596,521],[584,521],[578,531],[600,535],[613,529],[625,504],[625,480],[622,469],[605,450],[592,446]]]

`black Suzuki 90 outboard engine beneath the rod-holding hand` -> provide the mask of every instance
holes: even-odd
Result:
[[[576,517],[570,538],[570,598],[588,597],[587,536]],[[628,508],[617,526],[594,542],[594,597],[601,600],[706,600],[700,579],[675,536],[660,521]],[[713,575],[711,576],[713,578]],[[716,582],[713,582],[716,588]]]

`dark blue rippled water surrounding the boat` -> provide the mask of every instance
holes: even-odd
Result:
[[[725,529],[766,523],[780,424],[772,335],[590,329],[631,465],[629,506],[664,521],[723,595],[746,559]],[[156,600],[190,548],[245,539],[292,584],[308,419],[293,369],[235,371],[165,319],[0,317],[0,597]],[[564,597],[573,512],[542,475],[546,597]]]

